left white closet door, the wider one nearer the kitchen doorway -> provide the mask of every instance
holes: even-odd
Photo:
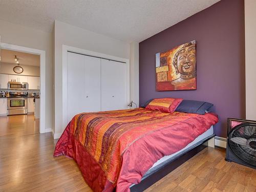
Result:
[[[100,58],[68,52],[68,121],[78,113],[100,111]]]

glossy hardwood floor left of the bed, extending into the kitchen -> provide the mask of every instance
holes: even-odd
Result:
[[[53,157],[51,133],[33,116],[0,117],[0,191],[92,191],[75,161]]]

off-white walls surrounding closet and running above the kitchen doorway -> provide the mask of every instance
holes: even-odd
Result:
[[[131,100],[139,104],[139,47],[137,42],[120,41],[55,21],[52,33],[0,20],[1,41],[46,51],[46,128],[61,134],[62,127],[62,45],[130,59]],[[17,30],[18,29],[18,30]],[[52,65],[54,63],[54,67]],[[56,101],[56,102],[55,102]]]

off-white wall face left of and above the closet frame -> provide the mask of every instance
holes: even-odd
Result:
[[[54,134],[56,137],[58,137],[65,128],[62,127],[62,45],[129,59],[130,44],[128,42],[123,42],[111,37],[65,24],[57,20],[55,20],[54,33]]]

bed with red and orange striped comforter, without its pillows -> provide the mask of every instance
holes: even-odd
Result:
[[[66,127],[54,156],[73,158],[94,191],[139,191],[158,178],[156,173],[166,172],[174,159],[214,136],[212,125],[217,122],[214,113],[144,108],[81,113]],[[151,182],[145,184],[148,178]]]

